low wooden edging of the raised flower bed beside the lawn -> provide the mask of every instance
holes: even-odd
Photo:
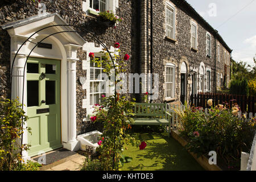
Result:
[[[188,142],[184,138],[180,137],[179,134],[180,133],[178,131],[171,130],[172,138],[176,139],[181,144],[181,146],[184,147]],[[220,167],[218,167],[216,164],[212,164],[212,165],[209,164],[208,159],[205,156],[202,155],[199,158],[197,158],[196,154],[194,154],[193,152],[189,152],[189,154],[191,154],[193,156],[193,158],[195,158],[196,161],[205,170],[207,170],[207,171],[222,171],[222,169]]]

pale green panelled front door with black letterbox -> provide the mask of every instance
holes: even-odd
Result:
[[[28,155],[61,147],[60,60],[30,57],[27,62]]]

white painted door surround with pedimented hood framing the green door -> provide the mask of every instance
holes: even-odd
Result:
[[[30,35],[32,35],[35,31],[39,30],[42,26],[48,26],[49,24],[67,24],[64,22],[63,19],[60,18],[57,14],[52,14],[47,16],[47,18],[40,19],[38,21],[32,20],[32,22],[26,23],[26,25],[15,25],[15,28],[10,28],[7,30],[9,35],[11,36],[11,62],[14,58],[14,53],[18,51],[18,48],[21,44],[26,40]],[[35,34],[32,38],[32,41],[37,42],[36,40],[42,39],[53,32],[56,31],[63,31],[64,27],[50,27],[47,30],[43,30]],[[68,27],[68,29],[73,30],[73,28]],[[22,36],[20,36],[22,35]],[[72,33],[64,33],[64,34],[56,34],[52,35],[46,40],[46,43],[52,44],[52,49],[42,49],[42,48],[35,48],[34,51],[31,53],[31,57],[40,57],[44,59],[59,59],[61,60],[61,142],[63,142],[63,146],[68,148],[69,150],[76,150],[77,145],[79,142],[76,140],[76,76],[70,77],[67,73],[67,64],[69,64],[69,69],[72,70],[73,73],[76,72],[76,52],[79,46],[84,44],[84,40],[78,34]],[[25,58],[27,57],[28,53],[34,47],[35,44],[31,42],[27,42],[24,44],[22,49],[20,49],[19,55],[16,57],[16,61],[14,64],[14,72],[19,73],[20,70],[24,68]],[[20,55],[21,54],[21,55]],[[69,61],[68,61],[69,60]],[[15,73],[16,74],[16,73]],[[26,80],[26,72],[25,72],[25,80]],[[68,82],[69,80],[69,82]],[[22,84],[23,81],[20,78],[13,79],[13,86],[11,92],[13,92],[13,97],[19,96],[22,92]],[[26,81],[24,82],[24,111],[27,111],[27,87]],[[68,92],[68,85],[73,85],[73,92]],[[69,98],[69,101],[68,101]],[[69,108],[69,102],[72,101],[72,107]],[[72,119],[70,119],[70,115],[72,115]],[[27,126],[25,123],[24,126]],[[23,143],[27,143],[27,131],[24,130],[23,134]],[[29,159],[29,156],[26,151],[23,152],[23,158]]]

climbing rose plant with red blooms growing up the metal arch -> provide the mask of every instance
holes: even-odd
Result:
[[[119,48],[120,44],[115,43],[115,48]],[[101,60],[96,57],[91,57],[91,61],[95,63],[96,67],[104,68],[104,72],[110,76],[110,71],[115,69],[115,77],[119,73],[125,72],[126,61],[129,60],[129,55],[125,55],[123,59],[119,56],[120,49],[115,49],[113,54],[113,60],[115,65],[113,65],[113,61],[110,59],[110,55],[108,52],[104,51],[104,57]],[[113,52],[112,52],[113,53]],[[116,80],[117,82],[121,80]],[[135,101],[135,99],[133,99]],[[125,96],[121,97],[119,93],[106,97],[104,95],[101,96],[101,105],[94,105],[94,116],[91,117],[93,122],[100,122],[103,124],[104,128],[102,131],[102,138],[98,141],[99,147],[97,151],[100,153],[100,159],[98,162],[100,163],[99,169],[101,170],[118,170],[121,169],[123,163],[130,162],[131,158],[128,156],[122,155],[123,150],[127,150],[125,144],[137,144],[138,142],[134,136],[127,134],[127,130],[131,129],[131,126],[128,122],[134,122],[132,116],[134,102],[130,101],[129,98]],[[144,144],[142,149],[146,147]]]

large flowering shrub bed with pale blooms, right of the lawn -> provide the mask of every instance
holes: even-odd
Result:
[[[250,152],[256,130],[256,119],[238,119],[239,110],[237,104],[232,110],[225,105],[212,106],[208,114],[202,107],[188,105],[184,111],[177,110],[182,125],[179,131],[188,140],[186,148],[197,156],[216,151],[226,164],[236,162],[239,166],[241,151]]]

